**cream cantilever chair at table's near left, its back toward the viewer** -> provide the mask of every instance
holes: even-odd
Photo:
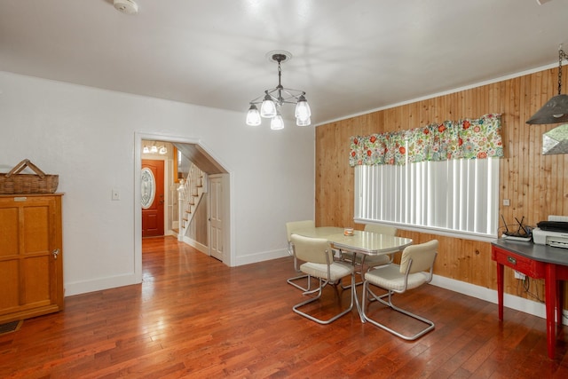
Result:
[[[298,259],[304,261],[304,264],[300,265],[300,270],[307,275],[319,279],[319,287],[304,291],[304,296],[312,295],[317,293],[317,296],[311,297],[304,300],[302,303],[294,305],[292,310],[297,314],[304,316],[307,319],[318,322],[319,324],[329,324],[344,314],[351,312],[353,309],[353,292],[349,291],[351,294],[351,304],[349,307],[343,309],[343,311],[335,314],[334,316],[328,318],[327,320],[319,319],[311,314],[300,311],[306,304],[318,301],[321,297],[323,288],[327,284],[331,284],[335,291],[337,291],[336,284],[339,283],[345,276],[351,275],[351,286],[354,284],[353,266],[346,262],[337,262],[333,257],[333,250],[329,245],[329,242],[324,238],[312,238],[304,237],[298,234],[292,234],[291,241],[294,244],[294,249],[296,251],[296,256]],[[338,294],[336,294],[338,295]],[[337,296],[339,298],[339,296]]]

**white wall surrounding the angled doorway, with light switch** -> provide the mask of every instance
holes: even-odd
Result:
[[[66,296],[141,280],[135,141],[146,135],[199,140],[231,173],[231,265],[287,254],[285,223],[313,217],[314,130],[248,127],[248,99],[235,101],[242,112],[0,71],[0,172],[29,158],[59,174]]]

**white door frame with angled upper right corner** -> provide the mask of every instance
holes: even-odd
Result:
[[[225,228],[227,233],[225,233],[225,258],[223,263],[232,267],[236,263],[234,257],[234,201],[233,199],[233,188],[234,188],[234,175],[233,170],[230,170],[224,162],[219,160],[216,154],[211,153],[211,149],[204,146],[199,138],[187,138],[179,136],[170,136],[167,134],[156,134],[147,132],[134,132],[134,275],[138,282],[142,281],[142,207],[140,207],[140,200],[142,194],[140,192],[140,171],[142,170],[142,140],[149,139],[154,141],[170,142],[170,143],[180,143],[180,144],[194,144],[199,145],[203,150],[205,150],[211,158],[218,162],[225,170],[228,172],[227,187],[225,188],[225,201],[228,204],[226,209],[228,214],[226,215]],[[208,225],[209,228],[209,225]]]

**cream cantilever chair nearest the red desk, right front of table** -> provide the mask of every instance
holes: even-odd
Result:
[[[400,258],[400,265],[383,265],[375,267],[375,269],[365,273],[365,280],[363,281],[363,299],[361,313],[363,318],[379,328],[383,328],[395,336],[403,338],[408,341],[413,341],[420,336],[425,335],[434,328],[434,323],[430,320],[424,319],[412,312],[405,311],[392,304],[393,294],[402,294],[410,289],[418,288],[422,284],[430,283],[432,280],[432,271],[434,269],[434,262],[438,255],[438,240],[424,242],[418,245],[407,246]],[[386,294],[381,296],[375,295],[371,290],[371,286],[383,288],[387,291]],[[367,295],[369,296],[369,304],[367,304]],[[388,300],[384,300],[387,297]],[[376,300],[373,303],[381,303],[392,310],[406,314],[420,320],[427,325],[426,328],[412,336],[406,336],[402,333],[385,326],[377,320],[371,319],[367,315],[370,300]]]

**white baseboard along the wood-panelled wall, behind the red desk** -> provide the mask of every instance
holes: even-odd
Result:
[[[476,297],[477,299],[485,300],[493,304],[498,303],[497,291],[495,289],[476,286],[475,284],[469,284],[461,280],[449,279],[438,275],[434,275],[430,284],[446,288],[463,295]],[[519,296],[503,294],[503,306],[546,319],[546,308],[544,304],[540,302],[535,302]],[[568,312],[564,311],[564,318],[562,320],[564,325],[568,325],[568,321],[566,320],[567,314]]]

